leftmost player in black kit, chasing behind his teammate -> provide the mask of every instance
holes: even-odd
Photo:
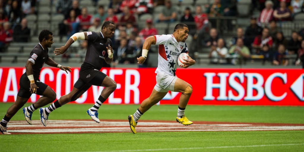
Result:
[[[49,58],[48,47],[51,47],[53,43],[53,33],[47,29],[42,30],[39,34],[39,43],[31,51],[29,59],[26,62],[26,72],[20,78],[20,88],[17,94],[16,102],[9,107],[4,118],[0,122],[0,132],[2,134],[10,134],[6,129],[7,123],[29,100],[33,93],[41,95],[42,97],[40,97],[29,107],[23,108],[25,119],[30,125],[32,124],[31,117],[33,111],[35,111],[37,108],[52,103],[56,99],[56,93],[54,90],[39,80],[41,68],[44,64],[47,64],[51,67],[58,67],[66,72],[71,72],[71,67],[61,66]]]

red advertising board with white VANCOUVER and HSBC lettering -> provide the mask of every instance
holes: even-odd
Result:
[[[117,83],[105,103],[140,104],[156,84],[155,68],[104,68]],[[14,102],[25,68],[0,68],[0,102]],[[176,76],[192,85],[189,105],[292,105],[304,106],[301,69],[178,68]],[[43,68],[40,81],[60,96],[68,94],[79,77],[79,67],[66,74],[58,68]],[[103,87],[92,86],[74,103],[94,103]],[[168,92],[158,104],[178,104],[181,93]],[[29,102],[36,102],[33,94]]]

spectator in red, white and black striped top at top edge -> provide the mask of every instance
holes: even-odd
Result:
[[[153,0],[137,0],[135,7],[138,16],[145,13],[151,14],[153,10]]]

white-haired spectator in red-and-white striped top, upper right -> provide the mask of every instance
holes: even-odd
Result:
[[[265,8],[262,10],[259,18],[258,18],[258,24],[259,25],[264,25],[264,24],[268,24],[272,19],[273,19],[273,16],[272,16],[272,13],[273,13],[273,9],[272,9],[272,6],[273,6],[273,2],[271,0],[267,0],[265,2]]]

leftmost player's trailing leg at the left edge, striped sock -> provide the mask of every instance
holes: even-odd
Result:
[[[0,132],[2,134],[10,134],[7,132],[6,125],[7,123],[9,123],[9,120],[18,112],[18,110],[22,108],[22,106],[27,102],[27,100],[29,100],[29,97],[22,98],[17,95],[16,102],[14,102],[14,104],[9,107],[4,118],[0,122]]]

